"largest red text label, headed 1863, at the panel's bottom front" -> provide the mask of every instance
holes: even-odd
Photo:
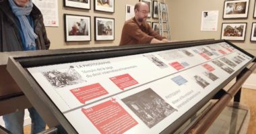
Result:
[[[125,133],[138,124],[114,99],[82,112],[100,133]]]

